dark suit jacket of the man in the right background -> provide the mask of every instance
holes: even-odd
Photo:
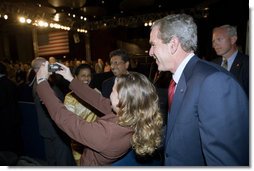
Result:
[[[216,58],[213,62],[221,65],[222,58]],[[249,97],[249,56],[238,51],[230,72],[236,77]]]

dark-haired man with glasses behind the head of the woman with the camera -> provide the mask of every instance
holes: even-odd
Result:
[[[115,78],[123,74],[127,74],[129,64],[130,64],[129,55],[123,49],[117,49],[110,52],[109,57],[110,57],[111,71],[113,72],[114,76],[103,81],[101,86],[102,88],[101,93],[104,97],[107,97],[107,98],[109,98],[112,92]]]

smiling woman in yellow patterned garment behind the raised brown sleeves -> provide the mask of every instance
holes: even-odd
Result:
[[[82,81],[84,84],[90,84],[92,80],[92,71],[88,64],[81,64],[75,70],[75,78]],[[97,90],[97,89],[96,89]],[[99,90],[98,90],[99,92]],[[64,105],[69,111],[72,111],[76,115],[80,116],[87,122],[93,122],[96,120],[95,115],[89,108],[88,104],[82,101],[73,91],[69,92],[64,99]],[[80,165],[81,154],[83,153],[84,146],[75,140],[71,143],[72,153],[77,165]]]

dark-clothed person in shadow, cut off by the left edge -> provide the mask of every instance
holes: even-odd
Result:
[[[20,155],[22,139],[18,90],[16,84],[6,75],[6,66],[0,62],[0,151]]]

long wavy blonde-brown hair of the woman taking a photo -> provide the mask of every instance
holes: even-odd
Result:
[[[162,139],[163,118],[154,85],[146,76],[129,72],[117,78],[119,124],[134,130],[131,144],[138,155],[151,155]]]

